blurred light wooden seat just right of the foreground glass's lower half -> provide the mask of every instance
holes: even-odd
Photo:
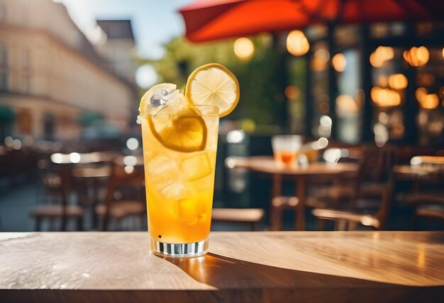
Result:
[[[245,224],[254,231],[260,229],[264,214],[261,208],[213,208],[211,221]]]

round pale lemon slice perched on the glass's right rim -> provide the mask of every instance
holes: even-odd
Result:
[[[238,79],[221,64],[203,65],[189,75],[185,99],[192,105],[216,106],[219,117],[226,116],[238,105]]]

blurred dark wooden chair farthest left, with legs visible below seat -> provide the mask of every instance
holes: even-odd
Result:
[[[40,231],[43,221],[54,224],[57,219],[62,221],[62,231],[65,230],[66,222],[75,219],[77,230],[82,230],[84,210],[77,205],[68,205],[67,178],[69,173],[64,167],[55,167],[48,160],[38,162],[40,169],[40,180],[43,183],[43,205],[38,205],[30,211],[30,217],[35,219],[35,231]]]

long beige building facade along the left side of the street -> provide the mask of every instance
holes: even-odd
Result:
[[[108,65],[62,4],[0,0],[0,107],[13,114],[1,125],[11,135],[76,138],[84,113],[125,132],[134,84]]]

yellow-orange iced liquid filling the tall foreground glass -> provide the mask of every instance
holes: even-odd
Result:
[[[152,120],[204,122],[207,135],[204,149],[178,151],[162,145],[148,120],[142,120],[148,230],[152,238],[165,243],[198,242],[210,231],[218,116],[160,115],[164,114],[158,113]]]

